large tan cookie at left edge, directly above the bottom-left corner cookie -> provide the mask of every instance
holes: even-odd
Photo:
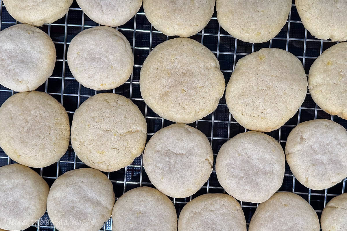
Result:
[[[65,108],[45,92],[19,92],[0,107],[0,146],[14,161],[42,168],[57,162],[69,145]]]

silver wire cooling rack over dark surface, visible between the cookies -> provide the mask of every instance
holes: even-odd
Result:
[[[0,6],[0,29],[3,30],[9,26],[17,24],[18,22],[6,11],[2,0],[0,0]],[[143,8],[141,8],[134,18],[128,21],[128,23],[116,27],[117,30],[127,37],[132,45],[135,61],[132,75],[124,85],[116,89],[95,91],[83,87],[73,78],[66,60],[66,52],[71,39],[81,32],[81,30],[93,26],[99,26],[99,24],[96,24],[89,19],[74,1],[65,17],[57,20],[55,23],[40,27],[52,38],[56,45],[57,61],[52,76],[37,90],[47,92],[56,98],[66,108],[70,121],[72,120],[73,113],[78,106],[92,95],[101,92],[113,92],[124,95],[125,97],[130,98],[144,114],[148,126],[147,140],[149,140],[156,131],[172,124],[172,122],[156,115],[144,103],[139,91],[139,71],[142,67],[143,61],[156,45],[174,37],[163,35],[155,30],[146,19]],[[335,42],[314,38],[303,27],[296,11],[294,0],[286,25],[282,28],[281,32],[269,42],[252,44],[235,39],[220,27],[216,18],[216,12],[214,12],[209,24],[200,33],[191,38],[201,42],[216,55],[220,62],[221,71],[225,76],[226,83],[235,68],[236,62],[243,56],[257,51],[260,48],[281,48],[293,53],[302,61],[305,72],[308,74],[308,70],[316,57],[330,46],[336,44]],[[14,93],[14,91],[0,85],[0,104]],[[294,117],[278,130],[266,134],[274,137],[284,148],[287,136],[293,127],[298,123],[316,118],[331,119],[347,128],[346,120],[325,113],[314,103],[310,93],[307,92],[304,103]],[[214,165],[220,146],[236,134],[247,131],[244,127],[240,126],[234,118],[232,118],[225,103],[224,96],[220,100],[217,109],[212,114],[190,125],[201,130],[208,137],[214,153]],[[11,163],[15,162],[11,160],[2,149],[0,149],[0,166]],[[71,145],[69,145],[66,154],[60,159],[60,161],[51,166],[34,170],[37,171],[51,186],[54,180],[58,176],[64,174],[64,172],[81,167],[86,167],[86,165],[78,159]],[[134,160],[132,165],[116,172],[105,172],[105,174],[114,186],[116,199],[126,191],[135,187],[143,185],[153,187],[143,168],[142,154]],[[301,185],[295,179],[286,162],[285,176],[279,191],[293,192],[302,196],[313,206],[314,210],[320,217],[322,209],[327,202],[329,202],[332,197],[345,192],[346,180],[347,179],[342,180],[341,183],[338,183],[329,189],[311,190]],[[171,198],[176,207],[177,215],[179,215],[179,212],[187,202],[205,193],[225,193],[225,190],[218,183],[215,168],[213,168],[209,180],[196,194],[187,198]],[[242,201],[240,204],[245,213],[248,229],[249,221],[251,220],[258,204]],[[100,230],[112,230],[111,224],[112,219],[105,222],[104,226]],[[47,213],[45,213],[38,222],[27,230],[39,231],[56,229],[50,222]]]

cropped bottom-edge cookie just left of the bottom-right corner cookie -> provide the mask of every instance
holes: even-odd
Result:
[[[259,204],[249,223],[249,231],[319,231],[316,212],[301,196],[275,193]]]

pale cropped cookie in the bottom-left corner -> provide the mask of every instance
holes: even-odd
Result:
[[[46,212],[48,192],[48,184],[34,170],[19,164],[1,167],[0,228],[29,228]]]

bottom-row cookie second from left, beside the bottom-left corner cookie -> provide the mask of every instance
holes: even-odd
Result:
[[[60,231],[99,230],[115,204],[113,185],[107,176],[92,168],[65,172],[51,186],[47,212]]]

